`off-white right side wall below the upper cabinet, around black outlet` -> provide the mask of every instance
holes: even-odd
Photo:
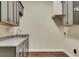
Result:
[[[76,56],[79,56],[79,25],[73,25],[67,28],[67,37],[69,38],[65,40],[65,49],[74,56],[73,49],[76,49]]]

